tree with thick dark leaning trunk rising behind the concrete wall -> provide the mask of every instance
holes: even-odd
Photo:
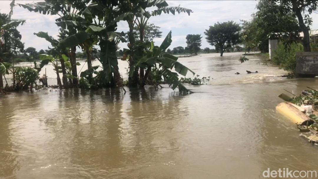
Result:
[[[274,28],[275,26],[278,26],[282,29],[287,30],[281,31],[280,34],[278,34],[279,38],[284,37],[285,47],[287,47],[287,45],[290,45],[294,41],[297,41],[299,32],[303,32],[304,38],[301,41],[304,46],[304,51],[310,52],[309,26],[312,24],[312,18],[310,18],[309,15],[313,11],[317,10],[317,1],[266,0],[260,1],[256,8],[259,10],[256,13],[256,16],[258,16],[262,20],[259,22],[270,24],[274,26]],[[295,21],[295,18],[298,19],[298,23],[297,21]],[[270,26],[268,25],[268,27]],[[263,28],[263,30],[264,29],[265,28]],[[274,30],[269,29],[269,31],[275,34]]]

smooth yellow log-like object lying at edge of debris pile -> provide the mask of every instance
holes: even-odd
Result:
[[[276,110],[297,124],[309,119],[306,114],[302,113],[296,107],[286,102],[278,104],[276,106]]]

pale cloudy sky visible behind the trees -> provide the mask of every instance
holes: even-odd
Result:
[[[11,1],[0,1],[0,12],[9,13]],[[37,1],[16,1],[16,3],[26,4]],[[204,35],[205,29],[214,25],[217,22],[225,22],[233,20],[236,23],[241,23],[240,19],[250,20],[251,14],[256,12],[255,6],[257,1],[191,1],[191,0],[171,0],[167,1],[169,6],[178,6],[191,9],[193,13],[188,16],[187,13],[181,13],[174,16],[171,13],[161,14],[160,16],[151,17],[149,23],[153,23],[156,26],[161,27],[162,38],[154,39],[155,45],[160,45],[168,32],[172,31],[172,43],[169,47],[186,47],[187,34],[201,34],[202,46],[201,48],[209,47]],[[149,9],[151,10],[151,9]],[[318,14],[313,13],[313,25],[311,29],[318,29]],[[12,19],[24,19],[26,23],[23,26],[19,26],[17,29],[22,35],[21,41],[24,42],[25,48],[35,47],[37,50],[48,49],[50,43],[45,39],[39,38],[33,35],[34,32],[48,32],[49,35],[57,37],[58,26],[55,24],[57,15],[43,15],[36,12],[30,12],[22,7],[15,6]],[[121,21],[118,23],[118,32],[128,31],[127,22]],[[119,47],[128,48],[127,43],[120,43]]]

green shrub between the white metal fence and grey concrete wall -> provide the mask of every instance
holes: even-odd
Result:
[[[304,47],[300,43],[293,43],[289,50],[285,50],[282,42],[277,44],[273,55],[273,63],[284,70],[294,73],[296,71],[296,53],[303,52]]]

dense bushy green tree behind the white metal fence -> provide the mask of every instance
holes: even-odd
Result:
[[[268,39],[280,39],[287,48],[301,32],[294,12],[274,1],[259,1],[251,22],[243,21],[242,39],[247,48],[268,52]],[[275,24],[275,25],[273,25]]]

